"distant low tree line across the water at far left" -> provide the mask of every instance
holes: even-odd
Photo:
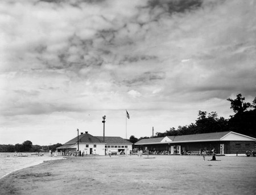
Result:
[[[16,143],[15,145],[0,145],[0,152],[48,152],[49,150],[55,151],[57,147],[62,146],[61,143],[56,143],[51,146],[32,145],[32,142],[27,140],[22,144]]]

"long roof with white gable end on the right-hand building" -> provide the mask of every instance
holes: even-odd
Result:
[[[167,137],[170,139],[168,141]],[[256,138],[235,132],[201,133],[191,135],[166,136],[158,138],[141,139],[135,145],[160,144],[160,143],[181,143],[181,142],[209,142],[209,141],[256,141]]]

